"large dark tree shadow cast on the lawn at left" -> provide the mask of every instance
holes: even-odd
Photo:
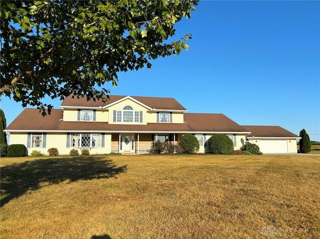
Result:
[[[126,171],[105,156],[48,158],[1,167],[0,207],[29,190],[68,180],[106,179]]]

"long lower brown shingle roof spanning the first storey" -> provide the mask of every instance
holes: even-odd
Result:
[[[42,117],[37,109],[24,109],[5,131],[9,132],[134,132],[134,133],[248,133],[223,114],[185,113],[184,123],[146,125],[108,124],[107,122],[63,121],[63,110],[54,109]]]

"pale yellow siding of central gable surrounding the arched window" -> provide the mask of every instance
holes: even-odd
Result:
[[[117,110],[117,111],[122,111],[123,107],[129,105],[133,108],[133,121],[134,121],[134,111],[142,111],[142,123],[140,122],[113,122],[113,110]],[[124,101],[121,101],[115,105],[112,105],[110,107],[108,107],[108,122],[109,124],[146,124],[149,123],[147,122],[147,109],[137,103],[135,103],[134,101],[130,100],[130,99],[126,99]]]

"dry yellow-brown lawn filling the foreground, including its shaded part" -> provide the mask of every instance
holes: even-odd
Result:
[[[320,237],[320,157],[1,158],[1,238]]]

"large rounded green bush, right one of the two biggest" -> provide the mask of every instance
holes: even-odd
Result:
[[[225,134],[215,134],[208,139],[212,154],[233,154],[234,146],[232,140]]]

